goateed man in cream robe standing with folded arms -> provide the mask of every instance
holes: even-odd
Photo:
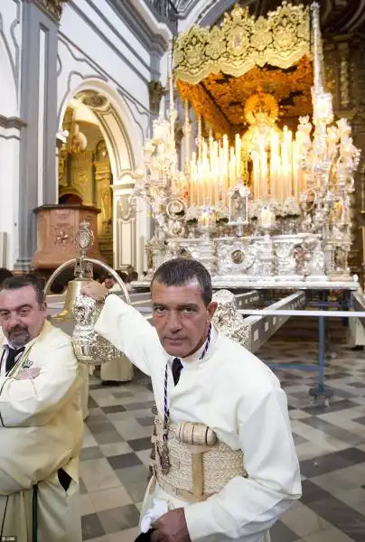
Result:
[[[80,542],[78,361],[46,321],[42,282],[0,288],[0,538]]]

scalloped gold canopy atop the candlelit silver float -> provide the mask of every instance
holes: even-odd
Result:
[[[220,26],[193,26],[174,45],[180,97],[218,137],[242,132],[245,102],[260,92],[276,98],[280,117],[295,128],[312,113],[309,20],[304,5],[283,2],[267,17],[235,5]]]

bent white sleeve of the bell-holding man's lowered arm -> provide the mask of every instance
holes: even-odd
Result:
[[[248,478],[234,478],[220,493],[185,508],[193,542],[211,535],[264,534],[301,496],[285,392],[269,390],[251,411],[242,404],[238,427]]]

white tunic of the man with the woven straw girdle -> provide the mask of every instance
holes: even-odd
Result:
[[[109,295],[96,331],[151,377],[156,406],[163,415],[169,356],[154,327],[136,309]],[[285,392],[264,363],[221,333],[203,360],[185,365],[176,387],[169,369],[171,421],[208,425],[230,448],[241,449],[248,479],[236,477],[220,493],[199,503],[171,497],[158,485],[152,497],[185,508],[192,541],[207,537],[210,542],[229,538],[261,542],[301,496]],[[150,500],[147,492],[144,509]]]

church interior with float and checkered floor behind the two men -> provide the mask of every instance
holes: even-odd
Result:
[[[303,497],[271,542],[363,542],[365,0],[2,0],[0,31],[0,266],[80,360],[83,540],[136,539],[154,394],[80,289],[150,322],[182,257],[287,395]]]

